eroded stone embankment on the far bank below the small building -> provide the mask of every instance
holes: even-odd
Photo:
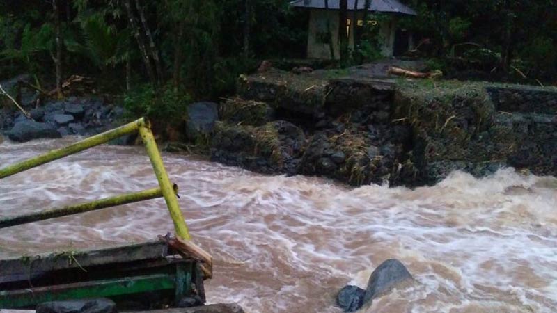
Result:
[[[557,175],[557,88],[269,70],[221,104],[212,159],[359,186],[512,166]]]

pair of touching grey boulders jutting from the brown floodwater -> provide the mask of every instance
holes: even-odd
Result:
[[[345,312],[354,312],[371,300],[413,281],[414,278],[400,261],[388,259],[375,268],[366,290],[348,285],[340,289],[336,303]]]

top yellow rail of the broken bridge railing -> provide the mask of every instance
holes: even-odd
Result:
[[[123,125],[116,129],[112,129],[110,131],[106,131],[102,134],[98,134],[89,138],[84,139],[83,141],[79,141],[74,143],[73,145],[68,145],[68,147],[63,147],[61,149],[52,150],[47,152],[46,154],[42,154],[38,157],[33,157],[31,159],[27,159],[26,161],[22,161],[19,163],[15,163],[7,168],[0,169],[0,179],[12,176],[17,174],[18,172],[23,172],[24,170],[29,170],[31,168],[35,168],[42,164],[48,163],[50,161],[54,161],[57,159],[61,159],[63,157],[67,157],[70,154],[75,154],[77,152],[81,152],[86,150],[90,147],[95,147],[96,145],[102,145],[103,143],[107,143],[113,139],[118,137],[124,136],[126,134],[135,133],[141,125],[145,125],[146,121],[143,118],[131,122],[127,125]]]

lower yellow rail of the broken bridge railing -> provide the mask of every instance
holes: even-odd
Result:
[[[178,193],[177,185],[173,185],[173,191],[174,193]],[[117,207],[118,205],[140,202],[144,200],[150,200],[150,199],[161,198],[161,197],[162,197],[161,188],[152,188],[146,191],[139,191],[136,193],[126,193],[124,195],[116,195],[114,197],[95,200],[93,202],[73,204],[67,207],[47,209],[45,211],[34,212],[31,214],[24,214],[24,215],[14,216],[10,218],[3,218],[0,220],[0,228],[38,222],[39,220],[49,220],[52,218],[59,218],[61,216],[80,214],[80,213],[95,211],[99,209],[106,209],[108,207]]]

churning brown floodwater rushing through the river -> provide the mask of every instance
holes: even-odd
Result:
[[[0,167],[77,138],[0,144]],[[194,240],[214,259],[210,303],[340,312],[345,284],[399,259],[417,282],[361,312],[557,312],[557,179],[455,172],[437,186],[347,188],[164,154]],[[141,147],[101,146],[0,180],[0,216],[157,186]],[[0,230],[0,257],[155,239],[164,200]]]

